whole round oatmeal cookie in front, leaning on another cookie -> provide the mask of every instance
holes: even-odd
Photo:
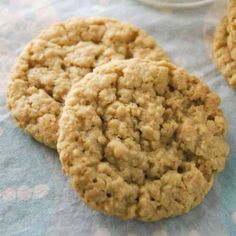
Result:
[[[58,151],[92,208],[144,221],[199,204],[228,154],[219,97],[168,62],[132,59],[74,84]]]

